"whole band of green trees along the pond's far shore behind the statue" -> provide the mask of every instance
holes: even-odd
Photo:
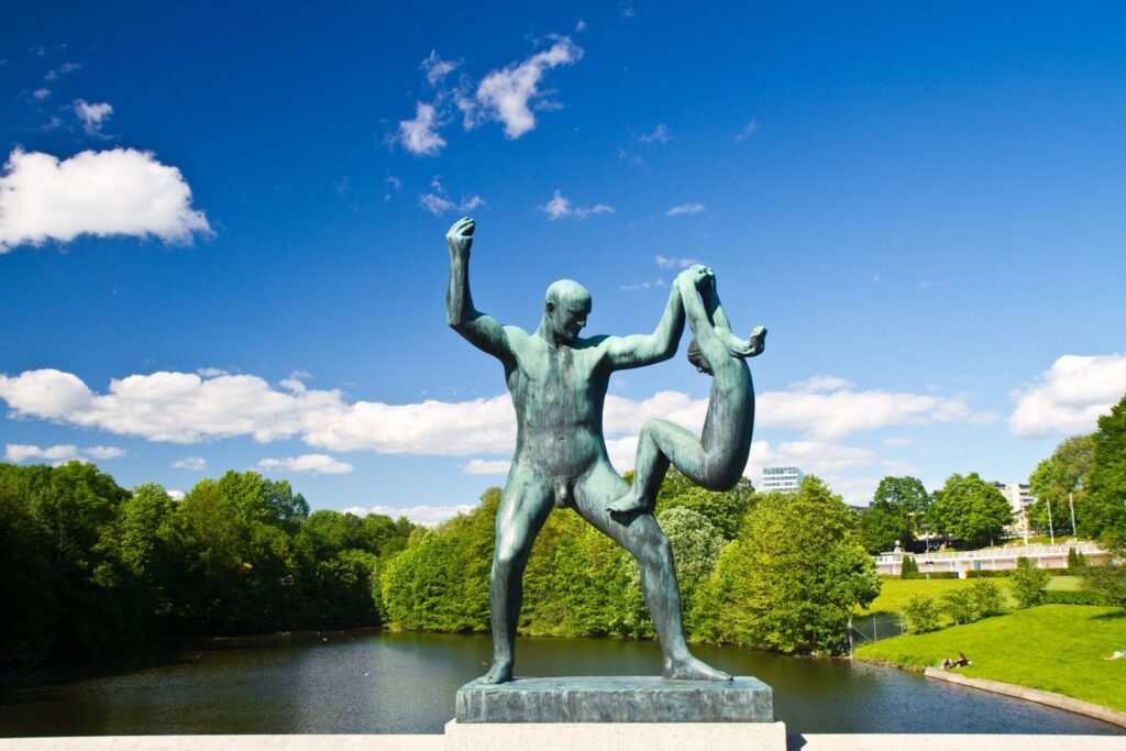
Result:
[[[0,662],[127,647],[145,638],[385,625],[489,629],[500,489],[435,528],[379,515],[310,513],[287,482],[204,480],[182,500],[133,491],[91,464],[0,464]],[[695,640],[840,651],[879,579],[855,515],[823,482],[726,493],[676,472],[658,519]],[[525,634],[655,636],[633,558],[572,510],[554,511],[525,574]]]

